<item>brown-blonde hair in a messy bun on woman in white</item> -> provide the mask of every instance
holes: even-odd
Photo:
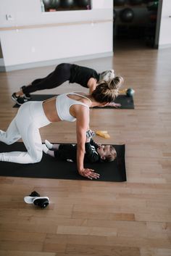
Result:
[[[122,83],[123,78],[121,76],[116,76],[109,81],[101,81],[91,95],[96,102],[114,102]]]

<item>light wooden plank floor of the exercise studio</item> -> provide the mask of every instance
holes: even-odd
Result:
[[[1,256],[171,255],[171,49],[117,49],[114,58],[78,62],[113,67],[135,89],[135,110],[91,110],[91,128],[107,130],[101,143],[126,145],[126,183],[0,178]],[[0,74],[0,128],[16,114],[10,96],[54,67]],[[84,91],[67,86],[44,94]],[[75,123],[41,128],[42,139],[75,142]],[[36,190],[49,208],[26,205]]]

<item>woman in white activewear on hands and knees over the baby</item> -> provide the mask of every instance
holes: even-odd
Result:
[[[92,94],[71,92],[43,102],[25,102],[9,124],[7,131],[0,130],[0,141],[13,144],[22,138],[27,151],[0,153],[0,161],[22,164],[40,162],[43,147],[39,128],[62,120],[69,122],[76,120],[78,173],[91,179],[99,178],[98,173],[84,168],[83,164],[86,131],[89,128],[89,108],[104,107],[113,102],[122,83],[123,78],[116,77],[110,83],[101,82]]]

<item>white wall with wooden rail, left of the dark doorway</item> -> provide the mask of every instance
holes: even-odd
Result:
[[[57,59],[112,55],[113,1],[92,0],[92,7],[41,12],[40,0],[1,0],[0,40],[5,69],[49,65]],[[25,27],[28,25],[32,28]]]

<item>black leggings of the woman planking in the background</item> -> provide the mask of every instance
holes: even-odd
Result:
[[[62,63],[59,64],[55,70],[46,76],[46,78],[38,78],[22,89],[24,94],[30,94],[34,91],[41,91],[45,89],[55,88],[62,83],[70,80],[72,64]]]

